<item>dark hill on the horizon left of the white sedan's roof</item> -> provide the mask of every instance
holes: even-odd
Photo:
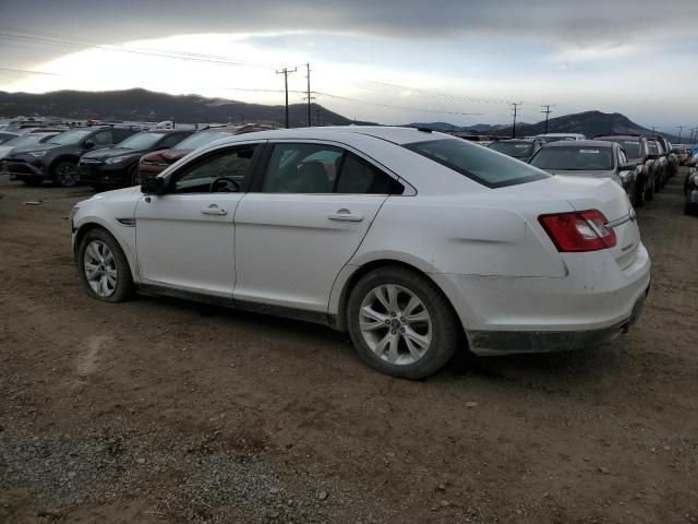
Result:
[[[147,90],[125,91],[56,91],[44,94],[0,92],[0,116],[13,118],[59,117],[83,120],[140,120],[176,122],[240,122],[256,121],[281,123],[284,106],[246,104],[225,98],[206,98],[200,95],[169,95]],[[348,118],[325,109],[318,104],[311,107],[313,123],[346,126]],[[289,106],[291,127],[308,124],[308,106]],[[363,123],[363,122],[362,122]]]

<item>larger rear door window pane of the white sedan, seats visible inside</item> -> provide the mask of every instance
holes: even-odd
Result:
[[[265,193],[332,193],[344,151],[323,144],[276,144],[264,176]]]

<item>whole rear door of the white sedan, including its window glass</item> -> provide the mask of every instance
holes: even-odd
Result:
[[[234,299],[326,312],[332,285],[402,187],[333,143],[267,145],[236,212]]]

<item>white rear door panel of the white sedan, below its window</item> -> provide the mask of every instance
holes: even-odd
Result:
[[[236,300],[327,310],[386,195],[249,193],[236,212]]]

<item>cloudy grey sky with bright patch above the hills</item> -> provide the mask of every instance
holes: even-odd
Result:
[[[698,0],[0,0],[0,91],[314,102],[380,123],[698,124]]]

